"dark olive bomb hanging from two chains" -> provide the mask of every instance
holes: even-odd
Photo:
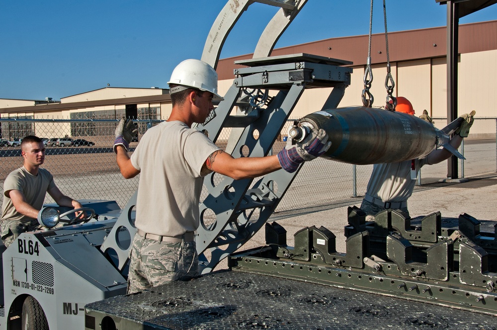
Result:
[[[305,143],[319,129],[324,129],[331,141],[330,149],[321,157],[337,162],[396,163],[423,158],[441,146],[454,153],[448,145],[449,136],[432,124],[407,113],[369,107],[308,114],[294,123],[288,135],[293,143]]]

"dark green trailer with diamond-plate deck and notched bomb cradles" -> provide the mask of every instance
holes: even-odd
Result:
[[[496,329],[495,238],[478,220],[364,219],[348,209],[346,253],[324,227],[303,228],[289,247],[267,223],[266,245],[230,255],[230,270],[91,303],[85,329]]]

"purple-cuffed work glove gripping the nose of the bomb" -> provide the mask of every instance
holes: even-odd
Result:
[[[278,161],[281,167],[287,172],[293,173],[299,168],[299,165],[312,161],[328,151],[331,142],[328,141],[328,134],[320,129],[313,140],[304,144],[288,145],[278,153]]]

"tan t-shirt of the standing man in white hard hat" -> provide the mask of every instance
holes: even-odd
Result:
[[[179,121],[149,129],[131,155],[140,170],[135,226],[146,233],[176,236],[199,226],[202,165],[219,148]]]

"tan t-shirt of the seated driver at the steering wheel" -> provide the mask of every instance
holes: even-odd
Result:
[[[33,220],[16,211],[10,199],[10,190],[20,190],[26,202],[37,210],[41,210],[45,195],[49,189],[55,187],[54,177],[44,169],[38,169],[38,175],[33,175],[24,166],[10,172],[3,182],[2,220],[19,220],[30,222]]]

